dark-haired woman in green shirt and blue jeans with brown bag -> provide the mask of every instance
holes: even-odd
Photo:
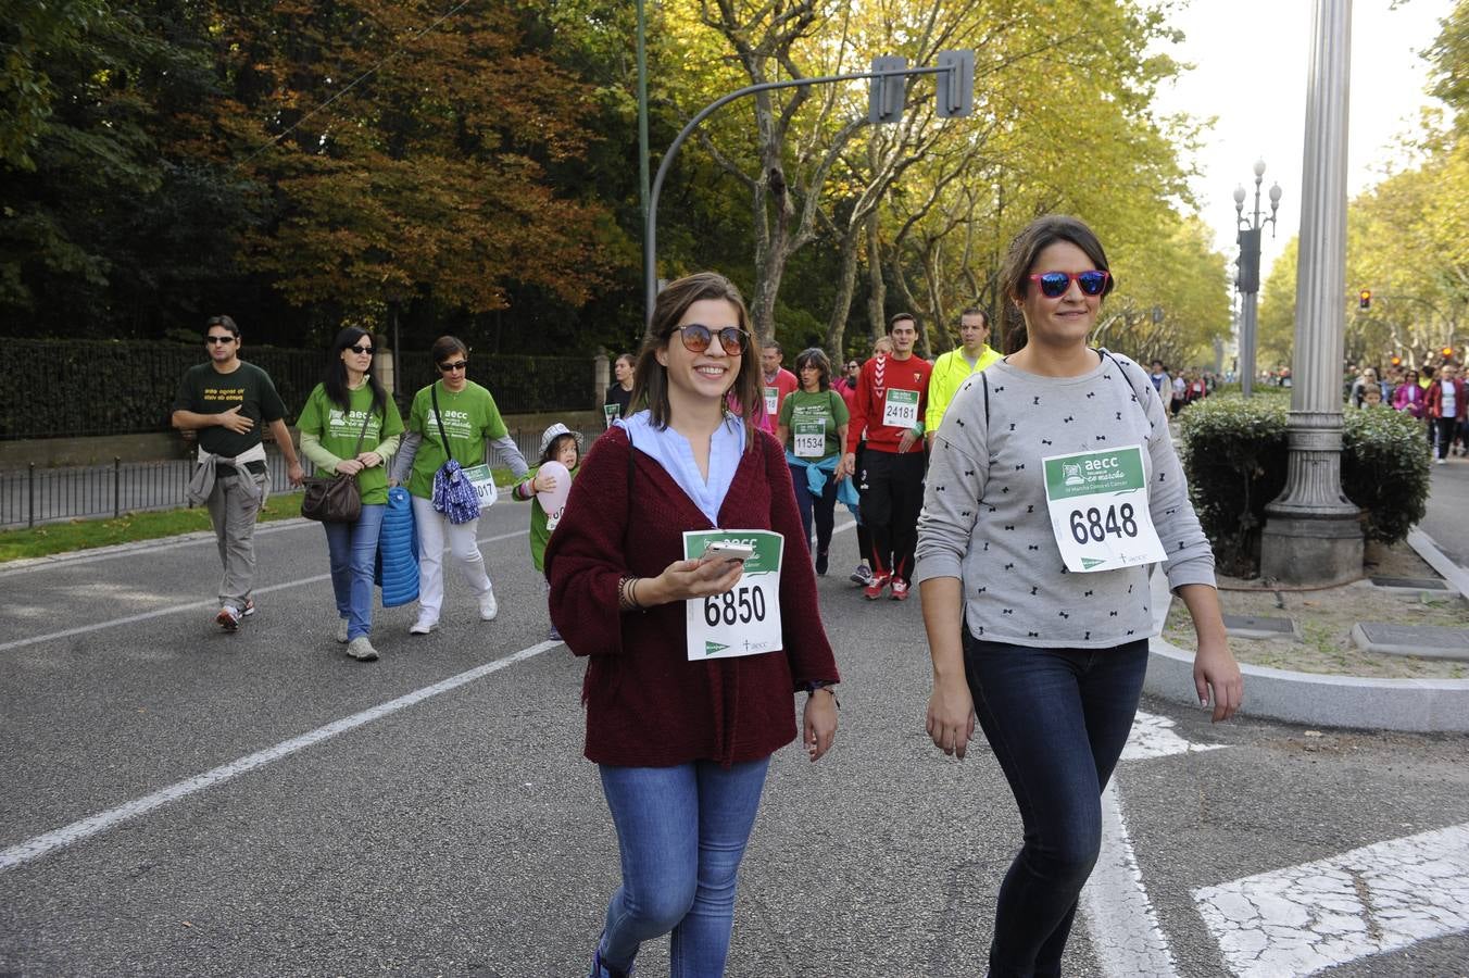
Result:
[[[348,326],[336,333],[326,374],[316,385],[297,426],[301,454],[317,471],[355,476],[363,511],[355,523],[323,523],[336,595],[336,640],[363,662],[378,658],[372,633],[373,559],[388,502],[386,463],[398,448],[403,417],[372,372],[373,339]]]

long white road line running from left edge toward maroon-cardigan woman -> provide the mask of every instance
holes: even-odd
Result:
[[[119,825],[131,818],[151,812],[153,809],[167,805],[169,802],[176,802],[181,797],[188,797],[190,794],[203,792],[204,789],[223,784],[231,778],[254,771],[256,768],[261,768],[272,761],[279,761],[281,758],[295,753],[297,750],[322,743],[323,740],[353,730],[354,727],[360,727],[389,714],[395,714],[400,709],[407,709],[408,706],[420,703],[430,696],[438,696],[439,693],[447,693],[448,690],[464,686],[466,683],[473,683],[483,675],[489,675],[491,673],[502,670],[507,665],[523,662],[524,659],[541,655],[546,649],[554,649],[560,645],[560,642],[541,642],[539,645],[507,655],[502,659],[495,659],[494,662],[486,662],[485,665],[469,670],[467,673],[451,675],[450,678],[435,683],[433,686],[425,686],[423,689],[405,693],[398,699],[391,699],[386,703],[379,703],[370,709],[364,709],[360,714],[353,714],[351,717],[332,721],[325,727],[317,727],[316,730],[304,733],[300,737],[284,740],[273,747],[266,747],[264,750],[257,750],[256,753],[231,761],[229,764],[220,765],[213,771],[206,771],[204,774],[198,774],[185,781],[170,784],[169,787],[154,792],[153,794],[134,799],[116,808],[109,808],[104,812],[72,822],[71,825],[65,825],[56,831],[46,833],[44,836],[26,838],[24,843],[0,850],[0,872],[13,869],[22,863],[40,859],[50,852],[107,831],[113,825]]]

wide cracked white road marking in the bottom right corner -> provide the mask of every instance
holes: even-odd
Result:
[[[1241,978],[1310,975],[1469,931],[1469,822],[1194,890]]]

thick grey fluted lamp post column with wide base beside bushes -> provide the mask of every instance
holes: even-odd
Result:
[[[1260,537],[1260,574],[1287,584],[1334,584],[1362,573],[1362,524],[1341,492],[1351,0],[1316,0],[1312,19],[1290,470],[1284,492],[1265,507]]]

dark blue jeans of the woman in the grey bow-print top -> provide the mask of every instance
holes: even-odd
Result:
[[[1122,755],[1147,640],[1028,649],[964,629],[974,712],[1025,824],[1000,885],[990,975],[1059,975],[1077,897],[1102,847],[1102,789]]]

